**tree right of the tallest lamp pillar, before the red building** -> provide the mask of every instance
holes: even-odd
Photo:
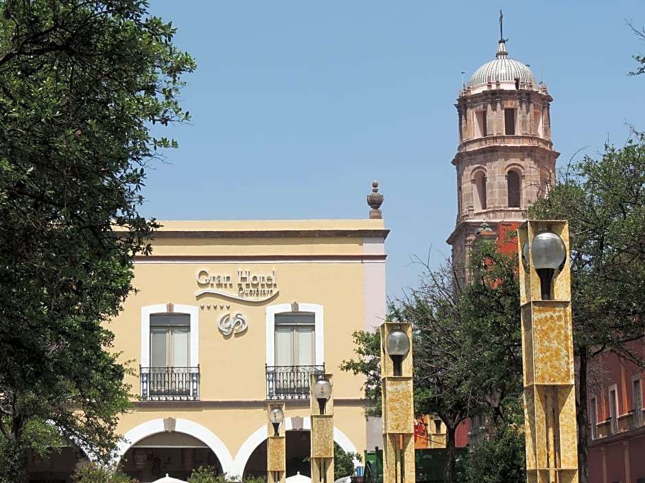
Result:
[[[578,467],[586,483],[589,363],[611,352],[643,366],[631,343],[645,333],[645,135],[570,162],[529,216],[569,221]]]

